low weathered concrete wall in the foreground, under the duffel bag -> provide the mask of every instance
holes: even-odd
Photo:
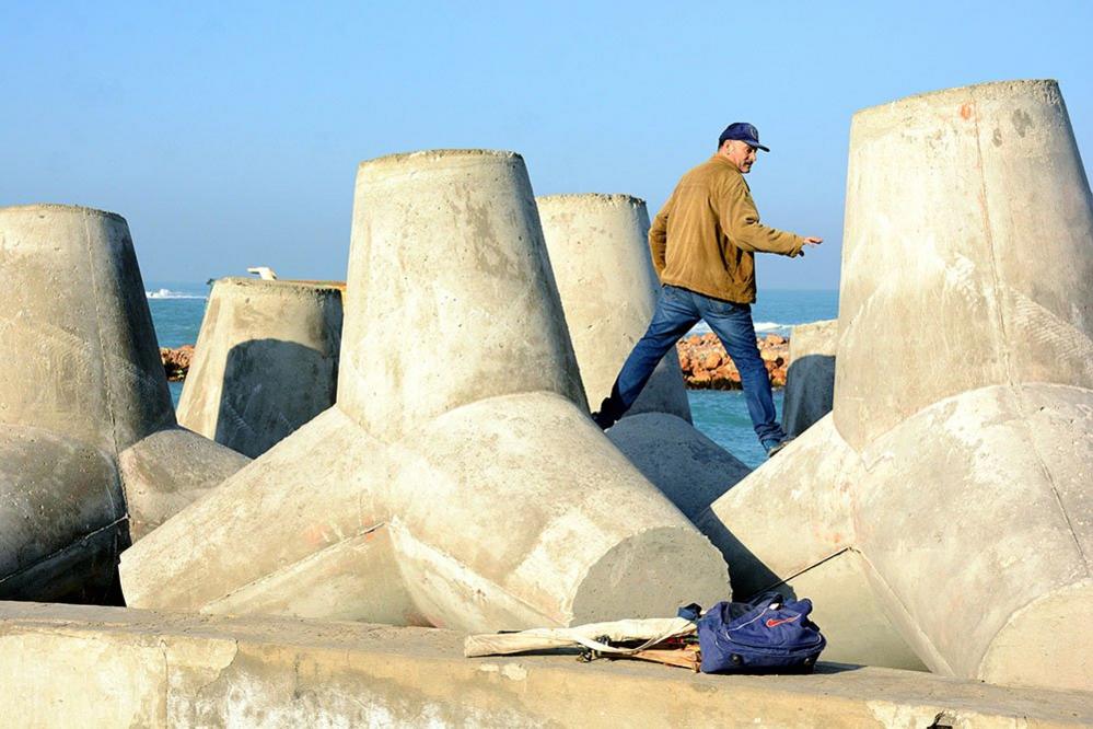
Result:
[[[39,727],[1079,727],[1091,694],[821,663],[714,676],[570,656],[467,659],[463,635],[0,604],[4,716]]]

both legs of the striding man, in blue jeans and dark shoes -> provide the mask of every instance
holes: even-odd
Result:
[[[677,286],[661,288],[653,320],[626,358],[611,396],[603,402],[595,415],[596,423],[607,428],[623,417],[641,394],[653,369],[667,350],[699,320],[705,320],[710,325],[736,364],[747,413],[752,416],[752,425],[759,442],[784,439],[786,432],[776,419],[778,416],[775,412],[775,398],[770,394],[770,378],[755,344],[752,306],[712,299]]]

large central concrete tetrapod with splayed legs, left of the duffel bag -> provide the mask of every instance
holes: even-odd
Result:
[[[586,415],[519,155],[364,162],[352,231],[336,405],[126,552],[130,605],[491,630],[724,597]]]

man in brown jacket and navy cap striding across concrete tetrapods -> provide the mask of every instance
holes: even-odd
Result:
[[[740,371],[747,412],[768,455],[786,443],[778,424],[770,378],[755,343],[756,252],[804,255],[819,238],[802,238],[759,223],[744,175],[752,171],[759,132],[730,124],[709,161],[685,174],[649,231],[661,296],[653,320],[623,364],[611,396],[592,417],[606,430],[630,409],[661,358],[690,327],[705,320]]]

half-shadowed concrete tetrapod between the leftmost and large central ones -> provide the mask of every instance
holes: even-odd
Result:
[[[257,458],[330,407],[344,288],[328,281],[216,281],[178,400],[178,421]]]

